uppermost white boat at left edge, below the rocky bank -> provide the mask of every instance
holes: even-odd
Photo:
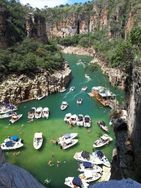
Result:
[[[17,107],[11,103],[8,103],[8,104],[5,103],[5,104],[0,105],[0,114],[13,112],[15,110],[17,110]]]

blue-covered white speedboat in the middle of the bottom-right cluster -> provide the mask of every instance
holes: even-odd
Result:
[[[103,171],[100,166],[95,165],[91,162],[81,162],[81,163],[79,163],[78,171],[84,172],[85,170],[92,170],[94,172],[99,172],[99,173],[102,173],[102,171]]]

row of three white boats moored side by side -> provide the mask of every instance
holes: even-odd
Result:
[[[28,112],[28,119],[33,120],[33,119],[40,119],[40,118],[49,118],[49,108],[48,107],[32,107],[31,110]]]

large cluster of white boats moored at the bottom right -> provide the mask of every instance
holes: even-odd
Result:
[[[79,162],[78,177],[65,178],[64,184],[69,187],[89,187],[89,183],[97,181],[103,174],[103,165],[110,168],[111,164],[102,151],[97,150],[93,153],[87,151],[76,152],[74,159]]]

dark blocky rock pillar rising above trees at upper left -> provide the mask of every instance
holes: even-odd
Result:
[[[40,39],[47,42],[45,18],[39,15],[29,13],[26,17],[26,32],[28,37]]]

